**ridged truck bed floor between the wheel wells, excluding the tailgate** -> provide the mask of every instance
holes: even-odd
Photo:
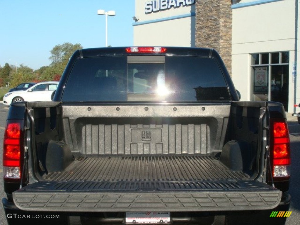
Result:
[[[66,171],[44,175],[48,181],[207,181],[244,180],[212,156],[104,156],[78,158]]]

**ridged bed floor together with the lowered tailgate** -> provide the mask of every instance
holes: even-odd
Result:
[[[211,156],[76,159],[63,172],[13,193],[29,211],[231,211],[271,209],[281,192]]]

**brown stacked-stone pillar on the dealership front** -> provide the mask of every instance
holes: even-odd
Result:
[[[196,47],[214,48],[231,76],[231,0],[196,1]]]

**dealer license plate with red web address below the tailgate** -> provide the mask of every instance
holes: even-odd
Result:
[[[125,223],[170,223],[170,212],[126,212]]]

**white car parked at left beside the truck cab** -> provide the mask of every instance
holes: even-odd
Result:
[[[51,95],[56,90],[57,81],[40,82],[24,91],[8,92],[3,97],[3,104],[10,105],[12,102],[36,102],[51,101]]]

